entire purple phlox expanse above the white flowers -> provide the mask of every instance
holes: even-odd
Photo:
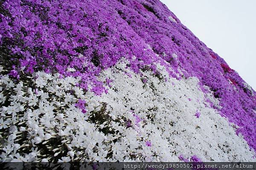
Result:
[[[58,72],[81,77],[79,87],[101,95],[108,91],[97,76],[120,58],[136,73],[145,66],[155,72],[158,62],[170,77],[198,77],[202,90],[208,86],[220,100],[221,116],[238,125],[237,133],[256,150],[255,91],[159,0],[5,0],[0,5],[5,9],[0,46],[9,50],[10,76]],[[76,107],[84,109],[84,102]]]

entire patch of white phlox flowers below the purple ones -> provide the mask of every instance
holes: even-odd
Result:
[[[101,96],[79,88],[79,78],[1,75],[0,160],[253,160],[242,136],[208,106],[197,78],[169,78],[160,65],[160,75],[138,75],[126,66],[102,71],[99,80],[113,82]],[[76,107],[79,99],[86,113]]]

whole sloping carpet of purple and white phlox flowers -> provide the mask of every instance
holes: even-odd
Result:
[[[0,0],[0,161],[255,153],[256,92],[159,0]]]

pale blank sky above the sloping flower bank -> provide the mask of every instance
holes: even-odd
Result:
[[[160,0],[256,90],[256,0]]]

